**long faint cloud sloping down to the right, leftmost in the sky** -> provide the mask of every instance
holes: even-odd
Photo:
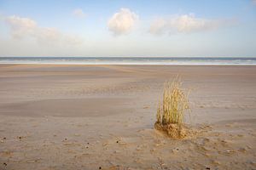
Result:
[[[79,37],[62,33],[56,28],[40,27],[36,21],[29,18],[21,18],[19,16],[6,17],[6,22],[11,28],[11,34],[16,39],[26,37],[35,38],[38,42],[44,44],[69,44],[75,45],[82,42]]]

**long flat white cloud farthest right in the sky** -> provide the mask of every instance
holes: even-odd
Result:
[[[194,14],[183,14],[168,19],[159,18],[151,23],[149,32],[162,33],[190,33],[196,31],[209,31],[217,29],[224,24],[224,20],[207,20],[196,18]]]

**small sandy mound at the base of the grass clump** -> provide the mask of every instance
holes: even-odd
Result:
[[[180,124],[162,125],[158,122],[155,122],[154,128],[156,130],[166,133],[167,136],[169,136],[172,139],[183,139],[189,133],[188,129]]]

